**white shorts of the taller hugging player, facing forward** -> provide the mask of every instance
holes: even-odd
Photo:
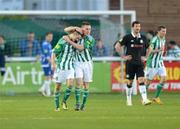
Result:
[[[84,82],[92,82],[93,62],[75,62],[75,78],[82,78]]]

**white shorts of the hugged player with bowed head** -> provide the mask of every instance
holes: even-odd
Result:
[[[56,83],[66,83],[66,80],[74,79],[74,69],[56,70],[53,78]]]

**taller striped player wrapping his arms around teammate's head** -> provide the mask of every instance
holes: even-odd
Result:
[[[68,27],[66,32],[76,29],[76,27]],[[93,76],[93,62],[92,62],[92,49],[95,45],[95,39],[90,35],[91,25],[88,22],[83,22],[81,29],[83,31],[83,38],[78,42],[67,41],[73,45],[77,50],[75,54],[75,78],[76,78],[76,105],[75,110],[84,110],[88,95],[89,95],[89,83],[92,82]],[[83,98],[80,104],[81,86],[83,84]]]

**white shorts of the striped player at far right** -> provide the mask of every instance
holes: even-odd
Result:
[[[149,80],[153,80],[155,76],[166,76],[166,68],[160,67],[160,68],[146,68],[145,70],[145,76]]]

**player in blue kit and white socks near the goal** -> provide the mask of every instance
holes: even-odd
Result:
[[[41,64],[44,71],[44,83],[42,87],[39,89],[44,96],[50,96],[51,90],[51,78],[52,78],[52,70],[51,70],[51,41],[53,40],[53,33],[47,32],[45,35],[45,40],[42,43],[42,52],[41,52]]]

